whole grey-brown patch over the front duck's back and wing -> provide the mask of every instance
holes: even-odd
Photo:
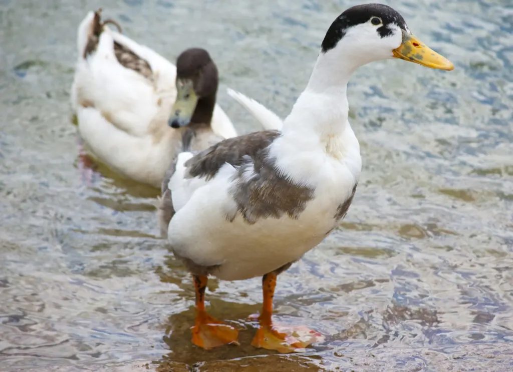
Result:
[[[238,168],[230,193],[247,223],[283,214],[298,218],[313,189],[291,182],[275,169],[268,146],[279,136],[279,131],[262,131],[225,139],[189,159],[188,176],[210,179],[229,163]],[[233,218],[227,216],[228,221]]]

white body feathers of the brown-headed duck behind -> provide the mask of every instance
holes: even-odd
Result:
[[[150,48],[109,28],[100,35],[96,52],[84,57],[93,19],[94,13],[89,12],[77,32],[71,106],[78,131],[89,152],[107,166],[160,187],[173,155],[180,149],[176,147],[180,132],[167,124],[176,98],[176,68]],[[114,40],[148,62],[153,82],[117,61]],[[224,138],[237,135],[218,105],[211,128]]]

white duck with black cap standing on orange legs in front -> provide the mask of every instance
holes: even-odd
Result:
[[[315,342],[273,323],[274,290],[280,273],[328,236],[349,210],[362,158],[348,121],[347,84],[360,66],[389,58],[454,68],[413,35],[396,10],[353,6],[328,27],[306,88],[284,120],[250,103],[261,120],[270,120],[268,127],[279,129],[177,156],[162,185],[159,208],[167,214],[160,222],[167,226],[169,249],[192,275],[193,344],[210,349],[239,343],[238,329],[206,311],[209,277],[262,278],[253,346],[288,353]]]

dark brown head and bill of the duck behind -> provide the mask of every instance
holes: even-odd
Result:
[[[176,101],[169,126],[210,124],[218,91],[218,69],[205,49],[191,48],[176,59]]]

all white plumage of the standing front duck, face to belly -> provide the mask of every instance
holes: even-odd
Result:
[[[265,128],[281,128],[281,136],[269,146],[268,160],[281,176],[313,190],[313,197],[297,218],[284,213],[248,223],[233,194],[249,179],[249,171],[239,174],[225,164],[208,181],[184,177],[185,170],[176,172],[169,186],[171,193],[179,192],[180,208],[169,223],[168,240],[179,256],[199,265],[220,265],[213,271],[220,279],[247,279],[299,259],[337,226],[339,206],[352,195],[362,168],[360,145],[347,120],[347,83],[359,66],[389,58],[401,45],[401,30],[393,27],[384,38],[370,22],[351,27],[336,46],[320,53],[283,125],[258,102],[229,92]],[[187,188],[188,193],[183,191]],[[247,207],[258,202],[248,201]]]

